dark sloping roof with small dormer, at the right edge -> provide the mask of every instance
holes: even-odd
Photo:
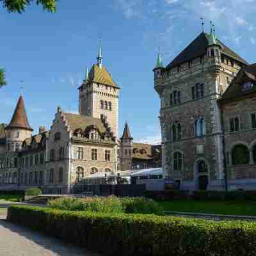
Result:
[[[242,86],[244,81],[253,81],[255,85],[248,90],[243,90]],[[238,97],[243,97],[245,95],[248,95],[250,93],[256,92],[256,63],[243,67],[241,70],[237,73],[237,76],[235,79],[230,83],[225,93],[223,93],[223,96],[219,100],[219,102],[223,102],[229,99],[235,99]]]

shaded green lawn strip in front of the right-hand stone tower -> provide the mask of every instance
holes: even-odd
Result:
[[[256,201],[170,200],[158,203],[164,211],[256,216]]]

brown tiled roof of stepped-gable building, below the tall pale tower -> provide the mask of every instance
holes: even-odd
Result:
[[[72,132],[76,131],[77,129],[82,129],[82,131],[85,131],[86,127],[90,125],[97,127],[99,132],[102,134],[106,132],[106,127],[104,127],[99,118],[72,113],[63,113],[63,115],[67,118],[68,125],[70,125]]]

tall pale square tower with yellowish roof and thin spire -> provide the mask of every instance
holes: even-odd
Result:
[[[102,47],[99,46],[97,64],[79,87],[79,113],[80,115],[104,118],[118,137],[118,97],[120,88],[116,85],[108,70],[102,65]]]

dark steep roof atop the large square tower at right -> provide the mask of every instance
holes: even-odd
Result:
[[[201,33],[193,42],[191,42],[188,47],[186,47],[180,54],[167,65],[166,68],[177,67],[178,65],[194,60],[200,56],[203,56],[206,52],[207,46],[210,42],[210,35],[207,33]],[[221,46],[221,53],[234,58],[234,60],[240,61],[241,63],[247,64],[246,61],[241,58],[236,52],[232,51],[220,40],[217,39],[217,44]]]

